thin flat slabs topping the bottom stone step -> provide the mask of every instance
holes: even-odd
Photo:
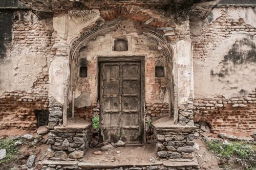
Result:
[[[191,167],[191,166],[199,166],[199,164],[191,159],[172,159],[165,161],[156,161],[155,163],[136,163],[131,165],[131,163],[121,163],[114,164],[113,162],[109,163],[90,163],[86,161],[80,160],[45,160],[42,162],[43,165],[63,165],[63,166],[78,166],[79,168],[116,168],[116,167],[128,167],[128,166],[165,166],[165,167]]]

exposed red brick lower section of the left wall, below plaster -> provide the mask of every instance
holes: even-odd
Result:
[[[0,98],[0,128],[36,129],[35,110],[47,109],[48,72],[38,76],[34,92],[5,92]]]

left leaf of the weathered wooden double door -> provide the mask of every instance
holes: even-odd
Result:
[[[120,133],[120,63],[102,63],[100,74],[101,132],[104,140],[119,140]]]

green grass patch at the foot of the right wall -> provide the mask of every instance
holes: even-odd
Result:
[[[254,145],[243,142],[222,143],[218,140],[206,141],[206,145],[228,164],[239,164],[243,169],[256,169],[256,147]]]

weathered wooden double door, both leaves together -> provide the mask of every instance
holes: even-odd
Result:
[[[141,142],[141,63],[100,63],[100,113],[103,140]]]

